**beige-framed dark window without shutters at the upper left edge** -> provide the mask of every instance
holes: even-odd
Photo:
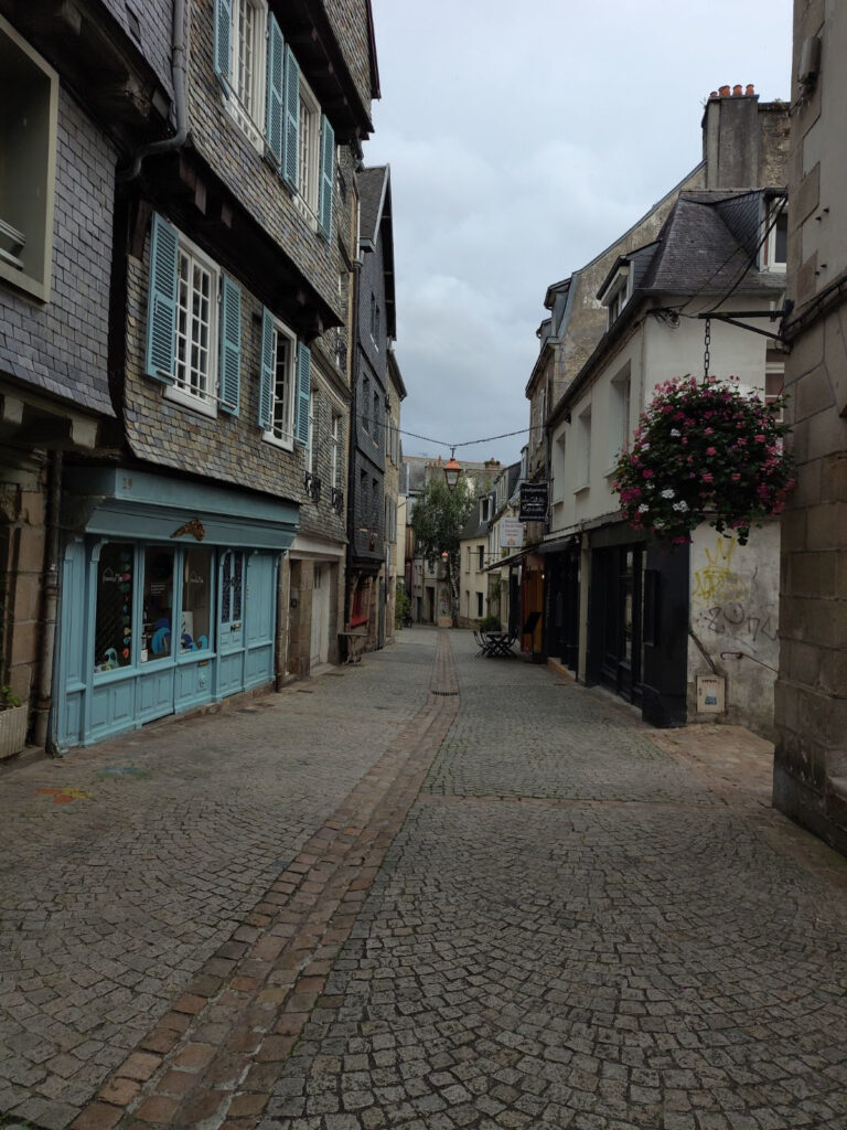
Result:
[[[0,16],[0,278],[50,299],[59,79]]]

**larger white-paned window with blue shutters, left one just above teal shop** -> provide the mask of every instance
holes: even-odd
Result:
[[[166,395],[204,415],[215,416],[218,406],[238,412],[241,288],[157,215],[150,236],[146,372],[166,385]]]

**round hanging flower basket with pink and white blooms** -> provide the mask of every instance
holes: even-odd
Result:
[[[615,466],[623,516],[673,545],[690,541],[700,522],[734,530],[745,545],[750,527],[778,514],[794,488],[784,405],[743,392],[734,376],[658,385]]]

